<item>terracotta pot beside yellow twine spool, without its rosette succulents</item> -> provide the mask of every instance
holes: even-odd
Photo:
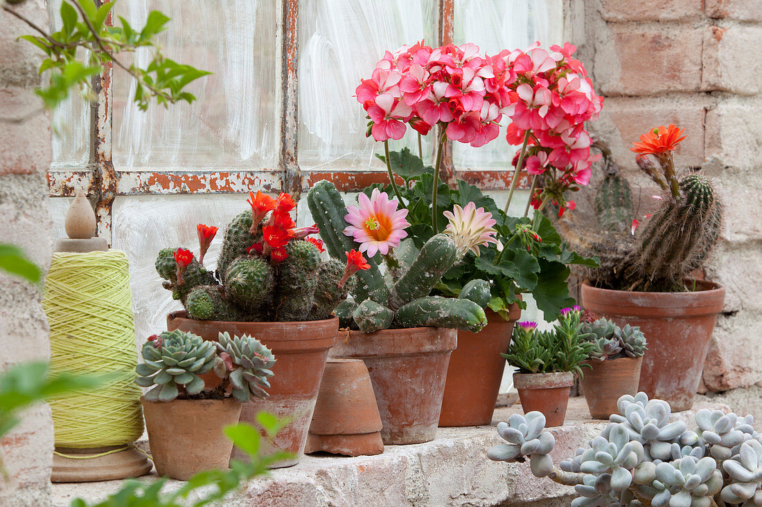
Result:
[[[227,470],[233,443],[223,428],[239,421],[241,403],[225,400],[146,401],[148,442],[156,473],[188,480],[203,470]]]

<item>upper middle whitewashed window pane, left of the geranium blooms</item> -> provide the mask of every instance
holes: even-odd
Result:
[[[435,44],[436,25],[437,2],[431,0],[299,2],[299,165],[303,169],[324,164],[382,167],[373,153],[383,153],[383,145],[365,137],[366,115],[353,97],[354,90],[360,78],[370,78],[386,50],[421,39]],[[408,129],[405,139],[411,148],[415,137],[415,131]],[[391,144],[392,149],[402,146],[402,142]],[[424,154],[428,148],[426,143]]]

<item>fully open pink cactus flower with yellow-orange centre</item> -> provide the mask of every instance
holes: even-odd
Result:
[[[373,257],[376,252],[383,255],[389,253],[389,248],[399,246],[399,241],[408,233],[405,228],[410,225],[405,217],[407,209],[397,209],[397,199],[389,200],[386,192],[377,188],[373,189],[370,199],[364,193],[357,197],[360,206],[347,206],[347,215],[344,220],[349,226],[344,229],[344,234],[352,236],[354,241],[360,244],[360,252]]]

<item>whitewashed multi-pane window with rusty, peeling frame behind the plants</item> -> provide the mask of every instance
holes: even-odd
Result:
[[[60,0],[48,3],[56,27]],[[159,38],[165,54],[214,75],[191,85],[194,104],[141,113],[126,73],[105,69],[97,104],[74,97],[54,113],[48,174],[59,198],[54,234],[63,234],[66,196],[85,188],[99,234],[129,257],[141,337],[178,308],[153,269],[158,249],[194,246],[199,220],[223,228],[245,207],[235,194],[298,193],[322,179],[352,192],[386,180],[373,156],[381,145],[365,138],[352,97],[384,50],[421,39],[490,53],[562,42],[562,0],[120,0],[115,14],[135,25],[152,9],[172,18]],[[415,139],[395,147],[403,142]],[[431,150],[424,144],[424,158]],[[449,177],[499,193],[512,155],[499,139],[479,149],[456,143],[443,162]],[[299,224],[307,213],[299,206]]]

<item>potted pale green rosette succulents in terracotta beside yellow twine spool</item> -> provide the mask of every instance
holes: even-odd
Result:
[[[223,428],[239,421],[241,404],[267,397],[272,352],[255,338],[219,333],[217,342],[181,330],[149,338],[135,383],[156,472],[188,480],[202,470],[226,470],[232,442]],[[201,375],[218,378],[213,387]]]

